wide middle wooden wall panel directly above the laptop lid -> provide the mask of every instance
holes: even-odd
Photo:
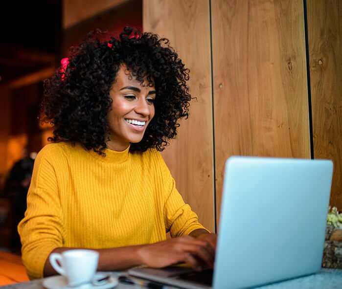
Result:
[[[302,0],[212,0],[217,222],[228,156],[310,157]]]

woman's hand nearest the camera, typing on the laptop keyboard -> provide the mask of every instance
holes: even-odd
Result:
[[[188,263],[194,269],[213,267],[215,250],[213,234],[207,237],[182,236],[151,245],[143,245],[137,251],[141,263],[149,267],[165,267],[178,263]],[[216,238],[215,238],[216,240]]]

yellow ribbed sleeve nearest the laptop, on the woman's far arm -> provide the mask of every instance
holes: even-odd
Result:
[[[166,231],[170,232],[171,237],[179,237],[182,235],[189,235],[196,229],[207,230],[198,222],[196,213],[191,210],[188,204],[184,203],[181,194],[176,189],[176,182],[171,176],[170,170],[166,166],[160,153],[157,153],[156,155],[163,181],[163,215]]]

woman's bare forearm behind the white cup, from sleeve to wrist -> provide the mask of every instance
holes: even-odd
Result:
[[[144,245],[125,246],[109,249],[92,249],[99,253],[99,261],[97,270],[124,270],[130,267],[142,265],[143,262],[139,257],[138,250]],[[66,250],[81,249],[81,248],[56,248],[51,253],[62,253]],[[51,254],[50,253],[50,254]],[[49,262],[49,257],[44,266],[44,277],[57,274]]]

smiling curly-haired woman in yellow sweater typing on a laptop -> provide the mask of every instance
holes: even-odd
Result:
[[[213,266],[216,237],[159,153],[188,115],[188,69],[168,40],[132,32],[89,35],[46,82],[53,143],[36,158],[19,224],[31,278],[54,274],[49,254],[75,247],[96,249],[98,270]]]

